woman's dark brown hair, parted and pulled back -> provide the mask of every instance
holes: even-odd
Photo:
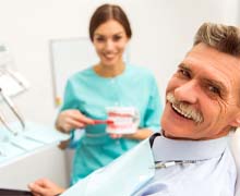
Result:
[[[109,20],[115,20],[119,22],[123,26],[128,38],[131,38],[132,36],[131,26],[123,10],[116,4],[103,4],[97,8],[93,16],[91,17],[89,38],[92,41],[94,39],[94,32],[96,30],[96,28]]]

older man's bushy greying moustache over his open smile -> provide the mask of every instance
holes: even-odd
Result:
[[[203,121],[202,114],[200,112],[197,112],[190,105],[178,101],[172,94],[167,95],[167,100],[171,103],[172,109],[182,117],[189,120],[193,120],[196,123],[201,123]]]

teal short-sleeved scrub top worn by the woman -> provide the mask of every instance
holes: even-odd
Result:
[[[88,118],[106,120],[106,108],[117,106],[139,110],[139,128],[159,131],[163,108],[157,83],[147,69],[135,65],[125,65],[124,72],[116,77],[101,77],[93,66],[75,73],[68,79],[61,111],[77,109]],[[139,142],[110,138],[105,124],[87,125],[76,145],[71,185],[108,164]]]

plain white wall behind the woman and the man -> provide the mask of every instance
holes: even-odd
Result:
[[[15,98],[27,119],[52,124],[56,117],[49,39],[87,36],[89,16],[103,2],[127,11],[133,27],[131,60],[153,70],[163,96],[201,23],[239,24],[240,17],[238,0],[0,0],[0,41],[32,85]]]

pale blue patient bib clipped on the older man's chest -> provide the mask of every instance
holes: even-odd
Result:
[[[155,174],[149,140],[137,146],[81,180],[61,196],[130,196]]]

